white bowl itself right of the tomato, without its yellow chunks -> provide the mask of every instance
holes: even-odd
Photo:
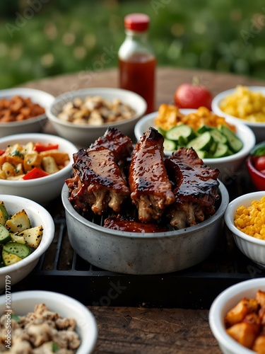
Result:
[[[265,87],[263,86],[247,86],[247,88],[250,91],[259,91],[265,96]],[[225,96],[230,95],[234,91],[235,89],[226,90],[218,93],[218,95],[213,98],[213,101],[211,103],[213,113],[216,113],[217,115],[223,116],[225,118],[229,118],[232,124],[235,124],[236,122],[241,122],[242,124],[247,125],[254,132],[257,142],[262,142],[265,137],[265,122],[248,122],[247,120],[229,115],[220,109],[220,101],[222,101]]]

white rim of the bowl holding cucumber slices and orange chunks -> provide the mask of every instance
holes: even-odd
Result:
[[[184,114],[189,114],[191,112],[196,112],[196,110],[192,110],[192,109],[179,109],[180,112],[184,113]],[[151,120],[153,118],[155,118],[158,115],[158,112],[153,112],[153,113],[149,113],[148,115],[143,116],[143,118],[141,118],[138,122],[136,122],[136,125],[134,127],[134,135],[136,137],[136,139],[139,139],[140,134],[136,134],[136,130],[137,132],[140,131],[140,127],[141,125],[143,125],[146,121],[148,122],[148,120]],[[224,157],[218,157],[215,159],[203,159],[204,163],[207,164],[217,164],[217,163],[224,163],[224,162],[230,162],[230,161],[234,161],[235,159],[240,159],[242,157],[245,157],[247,154],[249,154],[250,150],[254,147],[255,143],[256,143],[256,137],[254,135],[254,132],[247,126],[244,125],[240,122],[231,122],[230,119],[225,118],[225,120],[232,124],[235,125],[236,128],[240,129],[242,132],[244,132],[245,136],[247,137],[247,139],[243,142],[243,147],[239,152],[236,152],[235,154],[232,154],[230,156],[224,156]],[[166,156],[170,156],[172,154],[172,152],[166,152],[165,151],[165,155]]]

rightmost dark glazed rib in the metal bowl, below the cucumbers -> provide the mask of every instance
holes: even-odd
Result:
[[[184,147],[165,159],[165,168],[174,184],[176,199],[167,211],[172,227],[183,229],[214,214],[214,202],[218,199],[218,169],[206,166],[194,149]]]

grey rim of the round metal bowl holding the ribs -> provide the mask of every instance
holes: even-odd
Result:
[[[64,209],[66,212],[71,215],[78,223],[81,223],[85,225],[86,227],[90,227],[90,229],[95,229],[97,231],[100,231],[105,234],[110,234],[110,235],[115,235],[119,237],[124,237],[124,238],[131,238],[131,239],[158,239],[158,238],[163,238],[163,237],[177,237],[177,236],[187,236],[190,234],[193,234],[195,232],[199,232],[201,229],[204,229],[208,227],[210,224],[213,224],[214,222],[217,222],[218,219],[223,217],[224,212],[226,210],[226,207],[228,206],[229,202],[229,195],[228,195],[228,190],[225,188],[225,185],[218,180],[220,183],[219,185],[219,191],[221,195],[221,203],[220,206],[218,207],[218,210],[209,218],[206,219],[204,222],[201,222],[200,224],[197,224],[192,227],[187,227],[185,229],[179,229],[179,230],[174,230],[174,231],[169,231],[169,232],[156,232],[155,234],[153,233],[140,233],[140,232],[122,232],[119,230],[112,230],[108,229],[107,227],[102,227],[99,226],[98,224],[94,224],[93,222],[88,221],[84,217],[78,214],[76,210],[73,209],[73,206],[71,205],[71,202],[68,200],[69,196],[69,188],[64,183],[63,188],[61,189],[61,200],[64,206]]]

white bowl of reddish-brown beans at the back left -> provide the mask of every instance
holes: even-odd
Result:
[[[51,94],[36,89],[0,91],[0,137],[41,132],[47,122],[45,110],[54,101]]]

